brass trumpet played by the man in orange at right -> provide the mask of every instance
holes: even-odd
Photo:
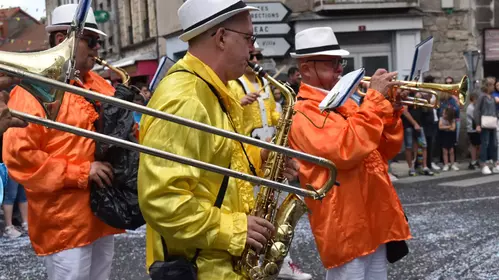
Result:
[[[371,77],[364,77],[362,79],[362,82],[364,86],[368,87],[371,81]],[[466,97],[468,94],[468,76],[463,76],[461,79],[460,83],[457,84],[451,84],[451,85],[446,85],[446,84],[436,84],[436,83],[420,83],[416,81],[397,81],[400,82],[402,85],[401,86],[396,86],[394,89],[392,89],[392,92],[395,92],[395,89],[401,89],[401,90],[409,90],[413,92],[424,92],[430,95],[435,96],[436,102],[434,104],[431,104],[428,102],[426,98],[419,98],[419,97],[404,97],[404,99],[401,101],[402,104],[404,105],[412,105],[412,106],[417,106],[417,107],[427,107],[427,108],[434,108],[437,109],[440,107],[440,95],[439,92],[447,92],[450,93],[459,99],[459,103],[461,106],[463,106],[466,102]],[[365,92],[360,92],[359,94],[361,96],[365,96]],[[392,93],[390,96],[390,101],[395,102],[396,101],[396,93]]]

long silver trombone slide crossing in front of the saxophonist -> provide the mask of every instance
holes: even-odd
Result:
[[[261,140],[255,139],[255,138],[244,136],[244,135],[232,132],[232,131],[227,131],[224,129],[220,129],[217,127],[213,127],[213,126],[204,124],[204,123],[196,122],[193,120],[189,120],[189,119],[178,117],[178,116],[175,116],[172,114],[168,114],[168,113],[165,113],[162,111],[154,110],[154,109],[151,109],[151,108],[148,108],[145,106],[135,104],[133,102],[128,102],[128,101],[120,100],[120,99],[117,99],[114,97],[109,97],[109,96],[105,96],[102,94],[98,94],[98,93],[92,92],[92,91],[87,90],[87,89],[75,87],[73,85],[68,85],[68,84],[62,83],[60,81],[56,81],[56,80],[52,80],[52,79],[49,79],[49,78],[46,78],[46,77],[43,77],[40,75],[32,74],[32,73],[17,69],[17,68],[12,67],[12,66],[1,64],[1,63],[0,63],[0,71],[7,72],[8,74],[10,74],[12,76],[20,77],[21,79],[26,80],[26,81],[51,85],[55,88],[58,88],[58,89],[61,89],[64,91],[68,91],[68,92],[83,96],[83,97],[88,98],[88,99],[97,100],[97,101],[104,102],[104,103],[109,103],[109,104],[112,104],[112,105],[115,105],[115,106],[118,106],[121,108],[125,108],[125,109],[131,110],[131,111],[140,112],[140,113],[147,114],[147,115],[150,115],[150,116],[153,116],[153,117],[156,117],[159,119],[163,119],[166,121],[171,121],[171,122],[174,122],[174,123],[179,124],[179,125],[185,125],[185,126],[188,126],[188,127],[194,128],[194,129],[198,129],[198,130],[201,130],[204,132],[216,134],[218,136],[230,138],[230,139],[233,139],[236,141],[240,141],[240,142],[254,145],[257,147],[265,148],[265,149],[270,150],[270,151],[284,154],[284,155],[291,157],[291,158],[298,158],[298,159],[302,159],[305,161],[309,161],[309,162],[315,163],[317,165],[324,166],[329,170],[334,170],[334,174],[336,174],[336,166],[334,165],[334,163],[332,163],[331,161],[329,161],[327,159],[321,158],[321,157],[309,155],[309,154],[295,151],[295,150],[292,150],[292,149],[289,149],[286,147],[282,147],[282,146],[275,145],[275,144],[268,143],[268,142],[264,142],[264,141],[261,141]],[[80,129],[72,127],[72,126],[67,127],[64,124],[54,123],[54,122],[51,122],[51,121],[46,120],[46,119],[36,118],[34,116],[31,116],[31,115],[28,115],[25,113],[16,112],[16,111],[12,111],[12,113],[14,116],[20,117],[28,122],[33,122],[33,123],[41,124],[41,125],[44,125],[47,127],[60,129],[60,130],[74,133],[74,134],[77,134],[77,135],[80,135],[83,137],[92,138],[96,141],[103,141],[106,143],[119,145],[119,146],[125,147],[125,148],[131,148],[131,149],[136,149],[136,150],[140,149],[139,150],[140,152],[153,153],[152,155],[157,155],[157,156],[163,157],[163,158],[168,159],[168,160],[173,160],[173,161],[177,161],[180,163],[193,165],[193,166],[201,168],[201,169],[205,169],[205,170],[216,172],[216,173],[223,174],[223,175],[228,175],[228,176],[235,177],[235,178],[239,178],[242,180],[252,182],[254,184],[261,184],[264,186],[277,188],[277,189],[280,189],[282,191],[292,192],[295,194],[311,197],[311,198],[316,199],[316,200],[321,200],[326,195],[325,193],[318,193],[314,188],[310,188],[307,190],[301,189],[301,188],[296,188],[296,187],[292,187],[289,185],[280,184],[277,182],[265,180],[265,179],[262,179],[259,177],[250,176],[250,175],[247,175],[244,173],[239,173],[239,172],[236,172],[233,170],[218,167],[218,166],[211,165],[211,164],[208,164],[205,162],[200,162],[200,161],[190,160],[190,159],[187,159],[184,157],[179,157],[175,154],[162,152],[159,150],[152,149],[150,147],[145,147],[145,146],[138,147],[138,146],[136,146],[138,144],[128,143],[126,141],[125,141],[126,143],[123,143],[121,140],[114,139],[114,138],[109,139],[105,135],[102,135],[99,133],[96,133],[97,135],[95,135],[91,131],[81,131]],[[152,150],[150,150],[150,149],[152,149]],[[335,184],[336,178],[331,178],[331,179],[332,179],[333,184]]]

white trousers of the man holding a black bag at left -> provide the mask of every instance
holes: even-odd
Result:
[[[107,280],[111,274],[114,236],[80,248],[43,257],[49,280]]]

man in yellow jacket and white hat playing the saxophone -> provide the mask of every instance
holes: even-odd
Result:
[[[178,14],[188,53],[161,81],[148,107],[240,131],[242,107],[227,83],[247,66],[255,40],[249,14],[254,9],[238,0],[186,1]],[[256,147],[246,145],[246,158],[237,141],[154,117],[144,115],[140,127],[140,142],[146,146],[240,172],[249,173],[248,160],[259,169],[265,159],[266,153]],[[296,170],[294,166],[285,175],[295,177]],[[163,237],[169,256],[190,260],[201,250],[198,279],[244,279],[232,261],[245,246],[263,248],[274,228],[248,215],[253,188],[245,181],[230,178],[222,206],[214,207],[222,181],[220,174],[141,155],[138,193],[147,222],[148,267],[164,260]]]

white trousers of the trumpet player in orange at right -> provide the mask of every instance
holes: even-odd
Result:
[[[370,255],[329,269],[326,280],[387,280],[387,264],[386,245],[383,244]]]

